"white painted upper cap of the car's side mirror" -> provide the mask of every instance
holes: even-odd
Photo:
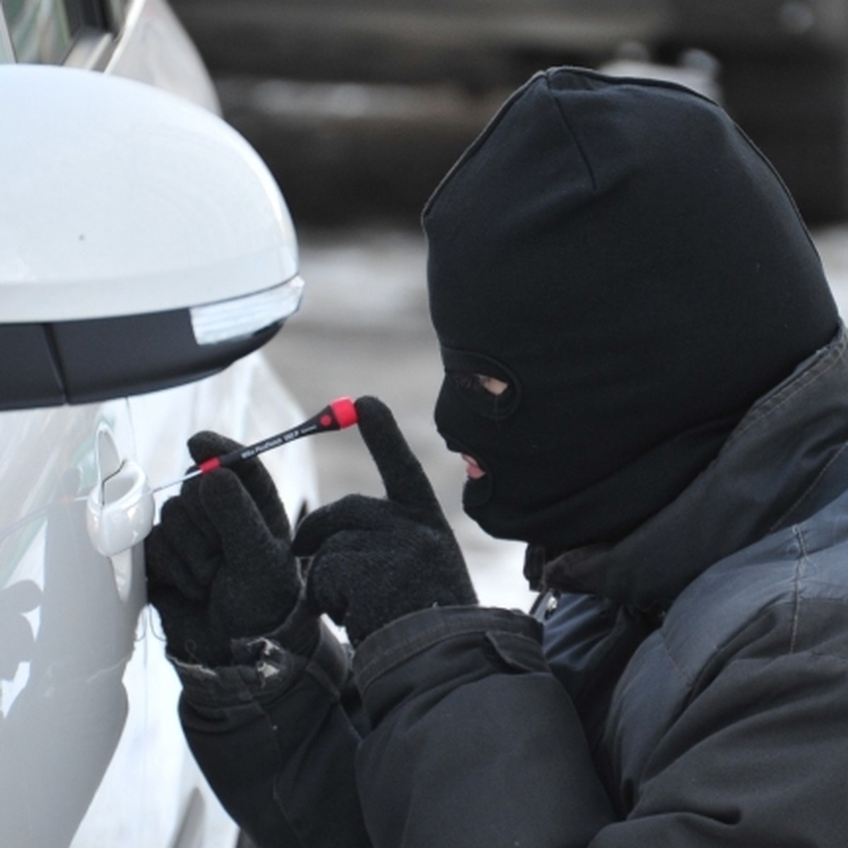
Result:
[[[176,310],[297,274],[297,240],[280,190],[235,130],[137,82],[110,79],[96,102],[80,100],[77,77],[89,80],[92,72],[66,70],[57,79],[54,71],[7,68],[29,85],[0,91],[4,112],[20,114],[2,146],[8,161],[20,163],[2,183],[3,321]],[[122,109],[129,85],[137,86],[133,109]],[[42,109],[18,102],[31,98]],[[104,110],[108,131],[92,133]],[[34,148],[39,155],[27,156]]]

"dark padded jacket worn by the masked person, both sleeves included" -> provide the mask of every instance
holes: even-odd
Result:
[[[541,622],[433,609],[352,664],[325,633],[310,661],[268,639],[182,667],[232,815],[263,846],[841,848],[845,354],[840,332],[621,543],[531,552]]]

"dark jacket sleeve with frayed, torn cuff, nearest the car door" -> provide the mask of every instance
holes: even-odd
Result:
[[[272,636],[245,640],[237,665],[176,664],[192,754],[257,848],[368,848],[347,651],[323,625],[308,657]]]

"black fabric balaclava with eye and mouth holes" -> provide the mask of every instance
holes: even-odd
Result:
[[[837,330],[782,181],[722,109],[672,83],[535,75],[423,223],[436,422],[487,471],[463,501],[500,538],[621,538]]]

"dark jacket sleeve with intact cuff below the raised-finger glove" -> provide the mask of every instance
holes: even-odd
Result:
[[[529,616],[452,607],[360,645],[373,730],[356,773],[376,848],[576,848],[611,822],[540,638]]]

